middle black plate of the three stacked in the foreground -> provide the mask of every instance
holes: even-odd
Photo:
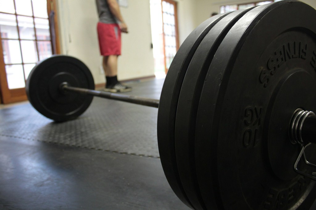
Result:
[[[211,28],[194,53],[182,83],[175,122],[175,151],[182,186],[195,209],[205,209],[214,203],[211,202],[214,195],[209,195],[203,201],[195,170],[194,134],[200,93],[218,46],[229,29],[248,10],[230,13]]]

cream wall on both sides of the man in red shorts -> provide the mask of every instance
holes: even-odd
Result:
[[[154,75],[150,14],[148,0],[129,0],[121,7],[129,28],[122,34],[122,55],[119,57],[120,80]],[[104,83],[96,32],[98,22],[95,0],[58,0],[58,19],[62,54],[79,58],[90,69],[94,82]]]

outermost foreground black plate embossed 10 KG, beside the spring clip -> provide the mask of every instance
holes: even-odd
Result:
[[[314,182],[293,173],[299,146],[288,135],[297,108],[316,110],[315,19],[298,1],[256,7],[214,55],[195,158],[201,194],[217,195],[218,209],[309,209],[315,200]]]

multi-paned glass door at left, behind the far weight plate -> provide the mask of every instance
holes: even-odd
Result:
[[[25,81],[38,61],[52,55],[52,42],[46,0],[0,4],[0,87],[2,103],[10,103],[27,99]]]

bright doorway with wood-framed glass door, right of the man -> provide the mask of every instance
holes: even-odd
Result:
[[[150,0],[150,20],[156,77],[165,77],[179,49],[177,2]]]

